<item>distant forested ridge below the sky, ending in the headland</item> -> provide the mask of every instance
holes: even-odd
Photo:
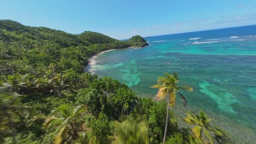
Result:
[[[8,42],[25,40],[27,44],[31,45],[36,42],[40,42],[59,45],[61,47],[109,44],[110,47],[108,49],[148,45],[145,41],[119,41],[117,39],[110,38],[107,35],[90,31],[85,31],[81,34],[69,34],[45,27],[29,27],[11,20],[0,20],[0,40]]]

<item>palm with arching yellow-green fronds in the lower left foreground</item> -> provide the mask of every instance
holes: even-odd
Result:
[[[45,119],[44,128],[53,125],[61,125],[61,129],[55,137],[54,143],[61,143],[65,135],[71,135],[71,139],[75,140],[78,136],[78,130],[75,128],[75,118],[83,112],[86,112],[84,106],[72,107],[72,105],[61,105],[57,110],[59,117],[51,116]]]

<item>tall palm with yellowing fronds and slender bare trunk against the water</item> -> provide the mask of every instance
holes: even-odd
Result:
[[[168,97],[165,134],[164,134],[163,143],[165,143],[165,139],[166,139],[169,108],[170,108],[170,106],[172,107],[175,104],[176,93],[178,93],[179,97],[182,98],[184,105],[186,105],[187,100],[181,93],[179,93],[179,91],[184,91],[184,90],[188,91],[188,92],[193,91],[193,88],[191,88],[188,85],[178,86],[179,77],[178,77],[177,73],[173,73],[173,75],[165,73],[165,76],[166,77],[162,77],[162,76],[158,77],[158,83],[161,83],[162,85],[152,86],[152,88],[158,88],[158,94],[156,95],[156,99],[165,99],[166,96]]]

